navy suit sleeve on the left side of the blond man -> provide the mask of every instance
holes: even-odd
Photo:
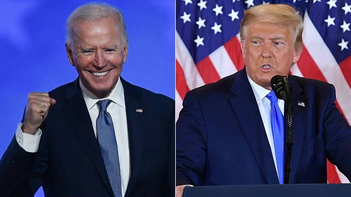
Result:
[[[176,185],[205,182],[206,125],[198,96],[189,91],[176,124]]]

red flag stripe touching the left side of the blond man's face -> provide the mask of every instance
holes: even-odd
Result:
[[[228,42],[224,43],[223,46],[225,50],[227,50],[227,53],[229,54],[230,59],[232,59],[235,67],[237,67],[237,70],[243,69],[245,63],[243,56],[241,55],[240,42],[237,36],[234,36]]]

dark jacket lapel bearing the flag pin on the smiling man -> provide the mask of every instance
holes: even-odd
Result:
[[[127,197],[138,179],[139,170],[141,168],[141,158],[143,156],[145,129],[146,124],[145,116],[147,111],[143,113],[137,112],[137,109],[143,109],[144,103],[140,101],[141,95],[134,90],[133,86],[126,82],[120,77],[123,89],[124,89],[124,100],[126,103],[126,115],[127,115],[127,127],[128,127],[128,138],[129,138],[129,149],[131,158],[131,176],[127,186],[126,194]]]

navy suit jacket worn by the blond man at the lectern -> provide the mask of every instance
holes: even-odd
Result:
[[[293,75],[288,81],[294,143],[290,183],[326,183],[327,158],[350,180],[351,128],[336,108],[334,86]],[[176,124],[177,185],[279,184],[245,68],[191,90],[183,106]]]

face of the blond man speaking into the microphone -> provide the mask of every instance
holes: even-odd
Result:
[[[247,75],[265,89],[271,90],[274,75],[288,75],[302,50],[295,49],[293,28],[270,22],[249,23],[241,51]]]

